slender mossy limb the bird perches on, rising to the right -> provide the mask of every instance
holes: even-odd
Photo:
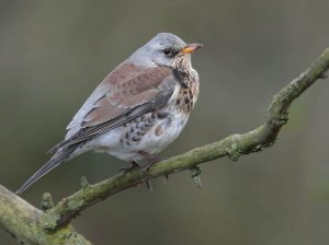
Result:
[[[329,49],[326,49],[310,68],[274,96],[268,109],[264,124],[252,131],[243,135],[232,135],[220,141],[162,161],[152,165],[145,173],[133,171],[113,176],[95,185],[88,185],[87,182],[83,182],[81,190],[63,199],[49,212],[43,214],[43,226],[47,230],[56,231],[69,223],[72,218],[87,207],[148,179],[192,168],[201,163],[223,156],[228,156],[236,161],[242,154],[257,152],[272,145],[281,127],[287,121],[291,103],[319,78],[325,78],[328,68]]]

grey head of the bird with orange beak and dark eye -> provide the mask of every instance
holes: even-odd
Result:
[[[159,33],[137,49],[129,60],[139,66],[164,66],[177,69],[182,63],[191,66],[191,54],[201,46],[201,44],[186,44],[171,33]]]

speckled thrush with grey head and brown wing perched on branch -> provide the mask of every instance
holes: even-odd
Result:
[[[180,135],[198,95],[198,74],[186,44],[159,33],[116,67],[93,91],[67,126],[53,158],[16,191],[21,194],[61,163],[87,151],[106,152],[138,165]]]

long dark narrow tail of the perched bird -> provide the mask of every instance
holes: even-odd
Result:
[[[69,160],[71,153],[76,150],[76,147],[70,147],[66,149],[60,149],[55,153],[55,155],[34,175],[32,175],[18,190],[16,194],[22,194],[25,189],[27,189],[33,183],[39,179],[42,176],[54,170],[56,166],[59,166],[61,163]]]

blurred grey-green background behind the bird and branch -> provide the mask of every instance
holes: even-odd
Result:
[[[193,55],[198,103],[163,156],[253,129],[283,85],[329,46],[328,0],[0,1],[0,183],[15,190],[49,155],[105,74],[159,32],[204,48]],[[272,148],[134,188],[73,221],[94,244],[308,245],[329,241],[329,80],[291,109]],[[117,173],[123,162],[83,154],[23,198],[39,206]],[[0,244],[15,244],[0,230]]]

